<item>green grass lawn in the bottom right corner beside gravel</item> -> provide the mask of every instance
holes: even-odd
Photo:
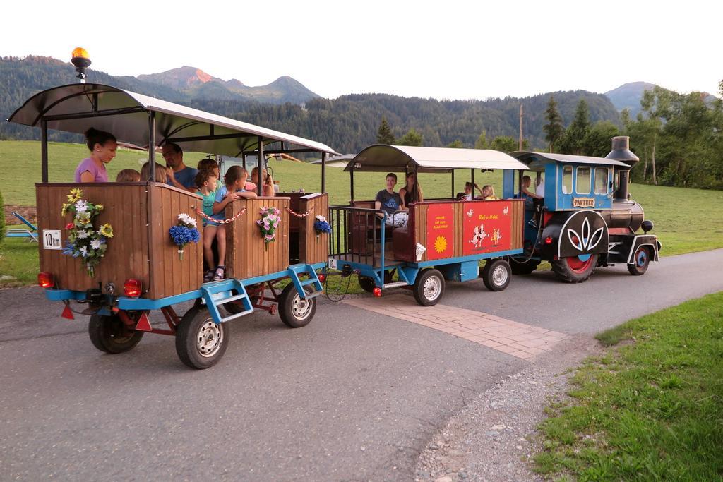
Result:
[[[719,481],[723,477],[723,293],[603,332],[570,403],[551,405],[536,471],[551,478]]]

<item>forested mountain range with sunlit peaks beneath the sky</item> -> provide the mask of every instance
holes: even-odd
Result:
[[[74,67],[42,56],[0,58],[0,115],[7,118],[35,92],[74,82]],[[137,77],[111,76],[89,69],[87,82],[114,85],[134,92],[200,108],[283,132],[317,139],[343,152],[375,142],[382,116],[401,137],[408,129],[424,136],[424,145],[448,145],[456,140],[474,146],[480,132],[489,138],[517,137],[518,111],[525,108],[525,136],[531,147],[545,145],[544,110],[549,95],[555,95],[565,125],[570,124],[576,105],[584,98],[590,120],[619,124],[619,112],[639,108],[644,90],[653,85],[631,82],[605,94],[585,90],[548,92],[528,98],[487,100],[436,100],[403,98],[386,94],[342,95],[325,99],[291,77],[279,77],[268,85],[250,87],[239,79],[223,80],[193,66]],[[633,113],[633,116],[635,114]],[[33,139],[36,129],[0,124],[0,138]],[[53,132],[51,139],[77,140]]]

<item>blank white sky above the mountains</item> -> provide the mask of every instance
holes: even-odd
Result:
[[[289,75],[326,98],[523,97],[638,80],[717,95],[723,79],[720,0],[25,0],[2,14],[0,56],[69,61],[82,46],[112,75]]]

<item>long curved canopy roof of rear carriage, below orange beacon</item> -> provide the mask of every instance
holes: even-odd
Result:
[[[184,150],[238,156],[263,144],[284,142],[284,148],[306,148],[336,154],[328,145],[283,132],[254,126],[101,84],[69,84],[38,92],[8,119],[26,126],[82,134],[90,127],[114,134],[122,142],[147,146],[148,113],[155,112],[158,145],[175,142]]]

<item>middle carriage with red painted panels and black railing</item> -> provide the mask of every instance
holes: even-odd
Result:
[[[437,304],[445,280],[482,277],[489,290],[505,289],[511,277],[505,257],[523,252],[524,202],[457,201],[454,172],[469,169],[474,184],[475,170],[526,168],[494,150],[367,147],[345,168],[351,181],[351,205],[329,208],[330,223],[335,226],[330,237],[330,270],[356,273],[361,287],[377,296],[384,288],[411,287],[416,301],[424,306]],[[452,194],[411,202],[406,225],[388,223],[396,213],[376,210],[373,200],[354,199],[354,173],[361,172],[451,173]],[[480,270],[483,259],[487,262]]]

